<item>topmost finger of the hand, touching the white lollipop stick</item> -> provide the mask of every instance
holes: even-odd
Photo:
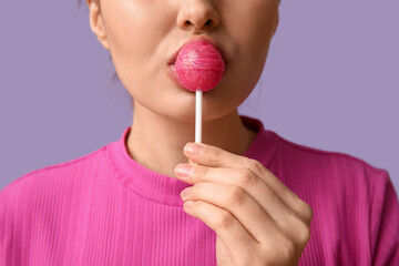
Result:
[[[267,183],[282,201],[293,208],[305,223],[310,224],[311,208],[291,192],[260,162],[226,152],[219,147],[203,143],[190,142],[184,147],[184,154],[193,162],[214,167],[248,168]]]

